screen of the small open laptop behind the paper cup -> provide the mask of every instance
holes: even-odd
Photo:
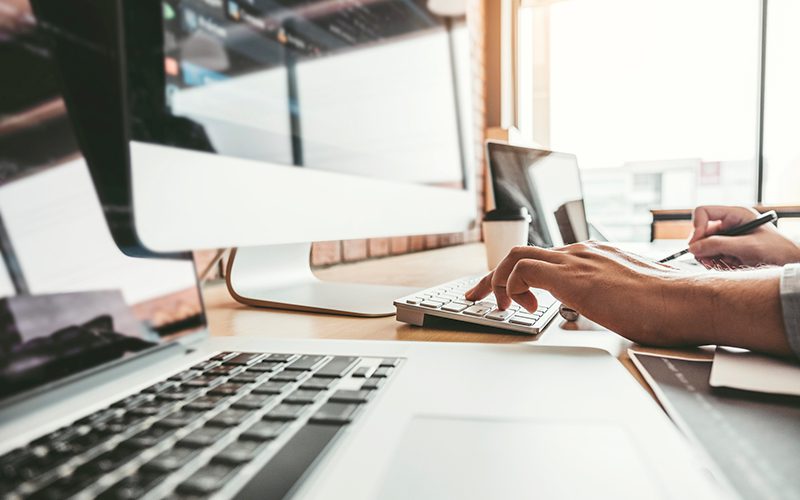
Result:
[[[528,243],[560,246],[589,238],[580,171],[574,155],[508,144],[488,144],[497,208],[525,207]]]

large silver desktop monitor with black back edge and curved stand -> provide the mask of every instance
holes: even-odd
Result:
[[[426,0],[33,3],[128,252],[238,247],[242,302],[382,315],[407,290],[320,283],[310,242],[474,222],[466,28]]]

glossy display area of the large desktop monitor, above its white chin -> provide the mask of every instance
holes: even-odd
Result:
[[[155,90],[167,116],[158,122],[180,123],[183,133],[158,137],[153,121],[141,133],[134,128],[135,138],[465,188],[462,21],[437,16],[426,0],[166,0],[162,7],[163,87]],[[135,85],[152,80],[142,75]]]

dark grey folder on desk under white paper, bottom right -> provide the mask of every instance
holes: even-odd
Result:
[[[630,354],[672,420],[742,498],[800,497],[800,398],[720,391],[708,384],[708,361]]]

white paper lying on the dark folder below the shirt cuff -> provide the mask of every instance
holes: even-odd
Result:
[[[712,387],[800,396],[800,364],[719,347],[714,354],[709,384]]]

